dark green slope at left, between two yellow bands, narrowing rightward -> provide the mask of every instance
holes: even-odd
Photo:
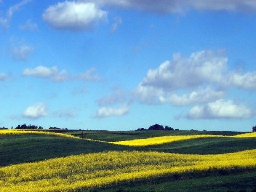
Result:
[[[0,166],[41,161],[81,153],[129,150],[105,142],[41,134],[0,135]]]

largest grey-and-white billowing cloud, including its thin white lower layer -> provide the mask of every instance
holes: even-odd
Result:
[[[163,62],[157,69],[150,69],[134,91],[134,98],[142,103],[170,102],[172,105],[190,105],[221,99],[222,91],[211,90],[227,84],[227,57],[223,50],[202,50],[182,57],[173,55],[172,61]],[[203,88],[203,87],[208,87]],[[178,90],[194,90],[177,95]],[[200,90],[199,92],[195,90]],[[168,96],[164,96],[168,95]]]

